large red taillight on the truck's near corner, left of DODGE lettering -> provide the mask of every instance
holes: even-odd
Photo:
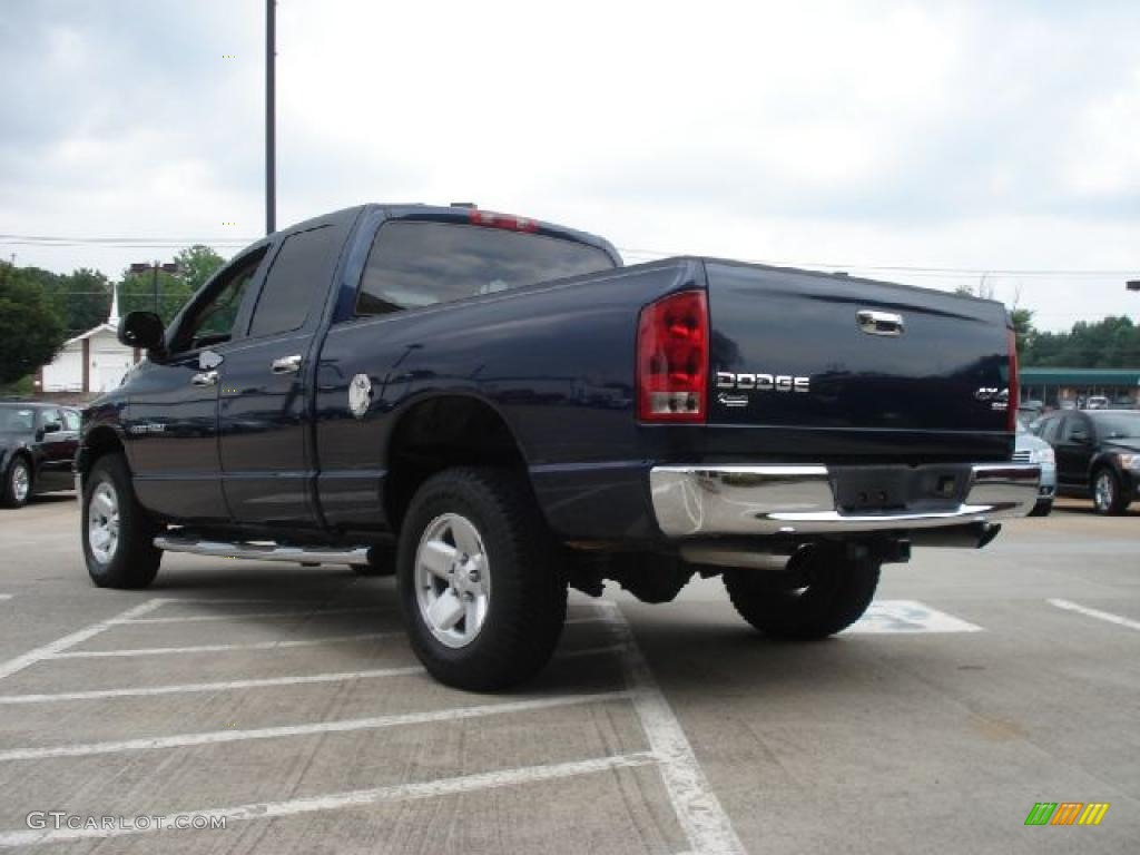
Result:
[[[703,422],[708,412],[709,309],[682,291],[642,309],[637,323],[637,417]]]

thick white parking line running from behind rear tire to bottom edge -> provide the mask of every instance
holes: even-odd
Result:
[[[625,616],[617,603],[602,600],[597,606],[621,643],[626,686],[632,692],[634,708],[649,736],[650,748],[661,762],[665,789],[693,852],[702,855],[743,855],[744,846],[697,763],[697,755],[681,722],[650,671]]]

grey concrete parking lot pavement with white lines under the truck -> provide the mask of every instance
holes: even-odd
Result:
[[[166,556],[97,591],[74,502],[40,499],[0,515],[0,849],[1131,853],[1138,516],[918,551],[816,644],[716,580],[576,595],[551,667],[477,695],[422,671],[390,579]],[[1041,801],[1109,808],[1026,826]],[[226,828],[155,829],[185,815]]]

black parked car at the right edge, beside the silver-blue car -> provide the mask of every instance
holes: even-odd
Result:
[[[1037,435],[1057,455],[1057,491],[1092,498],[1101,514],[1121,514],[1140,489],[1140,413],[1098,409],[1052,413]]]

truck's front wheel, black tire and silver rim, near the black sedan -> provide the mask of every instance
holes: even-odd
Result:
[[[92,523],[104,528],[100,519],[106,515],[106,506],[100,502],[93,508],[92,502],[103,497],[105,489],[113,492],[119,512],[117,536],[109,545],[101,544],[105,554],[92,545]],[[95,462],[83,482],[83,506],[80,514],[82,528],[83,557],[87,571],[100,588],[145,588],[154,581],[162,562],[162,549],[154,545],[154,537],[161,531],[135,498],[130,470],[121,454],[107,454]],[[99,540],[98,534],[95,538]]]

